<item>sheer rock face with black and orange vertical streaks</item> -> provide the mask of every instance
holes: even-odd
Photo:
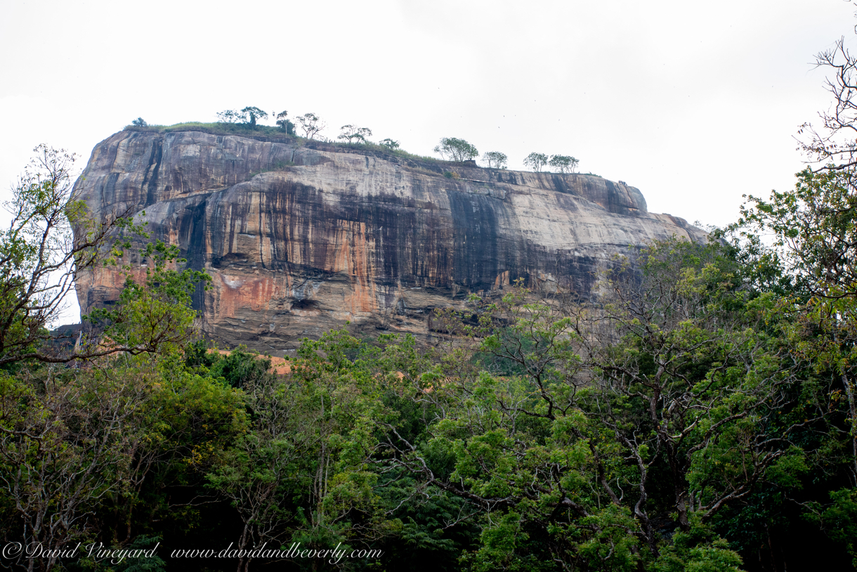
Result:
[[[301,141],[122,131],[93,150],[77,186],[95,216],[130,209],[208,270],[213,286],[195,296],[208,334],[279,355],[345,321],[424,337],[432,309],[518,279],[589,296],[614,255],[704,238],[603,178]],[[81,311],[116,299],[123,281],[81,276]]]

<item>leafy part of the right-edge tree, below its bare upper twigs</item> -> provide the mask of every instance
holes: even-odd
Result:
[[[817,444],[811,449],[811,460],[824,467],[824,481],[831,488],[830,499],[816,494],[805,503],[811,508],[806,516],[818,523],[836,521],[841,528],[825,526],[824,530],[840,541],[839,531],[850,526],[849,499],[854,489],[840,489],[835,477],[842,479],[844,473],[852,486],[857,483],[854,182],[853,166],[805,169],[797,174],[794,190],[773,191],[767,201],[749,197],[741,220],[730,229],[752,244],[756,260],[782,261],[788,268],[789,280],[781,280],[777,287],[794,285],[793,297],[782,303],[782,312],[788,312],[791,322],[781,335],[794,357],[806,364],[808,399],[798,417],[805,422],[824,420],[815,424],[819,438],[812,439]],[[761,236],[773,237],[772,246],[761,246]],[[822,417],[825,403],[827,414]],[[847,546],[854,556],[853,545]]]

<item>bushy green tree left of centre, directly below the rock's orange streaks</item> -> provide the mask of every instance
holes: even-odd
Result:
[[[241,518],[239,548],[333,548],[391,527],[365,465],[376,444],[371,419],[387,412],[362,350],[347,332],[331,331],[304,340],[291,379],[258,376],[244,386],[253,423],[207,474]]]

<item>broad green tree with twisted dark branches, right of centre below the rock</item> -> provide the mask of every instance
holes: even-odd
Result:
[[[598,307],[518,290],[462,316],[456,344],[472,336],[478,352],[423,369],[402,394],[430,414],[412,437],[388,427],[387,446],[394,467],[490,512],[471,562],[740,563],[716,515],[764,486],[799,489],[799,443],[826,401],[801,394],[770,335],[789,316],[726,254],[668,240],[644,250],[642,273],[605,275]],[[670,513],[681,545],[655,524]]]

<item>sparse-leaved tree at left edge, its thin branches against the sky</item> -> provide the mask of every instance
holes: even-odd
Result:
[[[170,270],[181,263],[176,246],[149,244],[147,282],[126,281],[117,304],[95,310],[105,338],[82,340],[75,349],[57,344],[47,327],[63,311],[63,301],[81,272],[116,264],[130,238],[147,238],[129,211],[92,220],[86,202],[75,196],[71,167],[75,156],[39,145],[4,204],[12,215],[0,234],[0,366],[27,360],[68,363],[117,352],[159,352],[189,336],[194,314],[183,312],[189,292],[209,280],[204,273]],[[129,269],[128,267],[125,267]]]

